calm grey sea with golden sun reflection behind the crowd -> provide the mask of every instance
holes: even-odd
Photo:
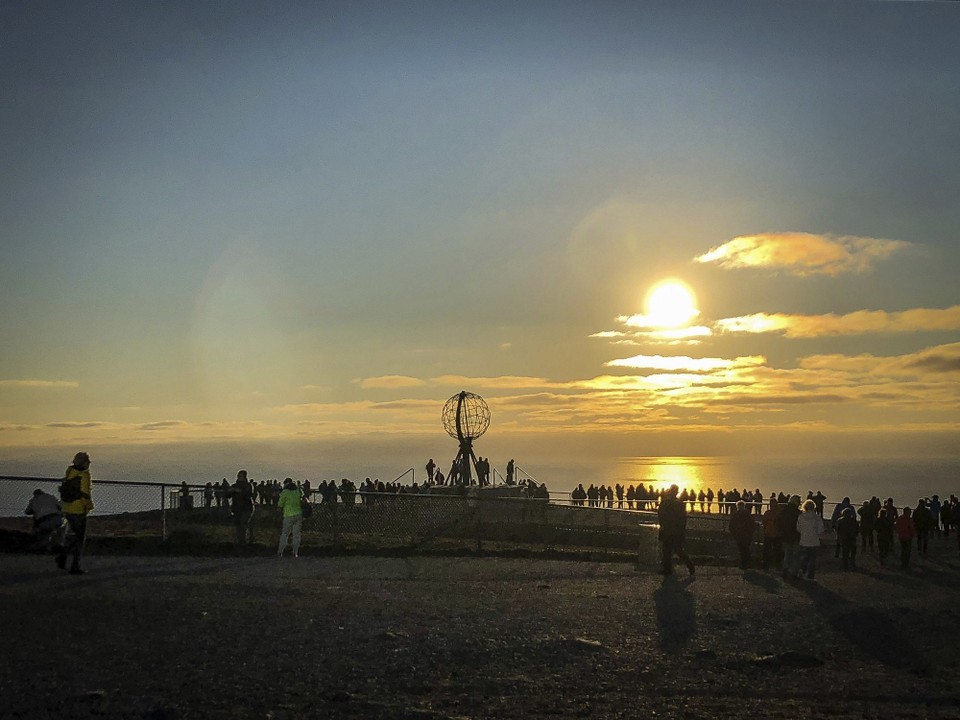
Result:
[[[894,498],[895,504],[915,505],[918,498],[939,495],[941,498],[951,494],[960,496],[960,457],[896,457],[896,458],[743,458],[743,457],[617,457],[591,461],[558,461],[555,458],[515,458],[517,477],[521,480],[532,479],[546,483],[551,499],[564,501],[569,493],[582,483],[594,485],[629,486],[642,483],[653,485],[655,489],[676,484],[681,490],[699,491],[701,488],[755,490],[760,489],[764,497],[771,493],[784,492],[806,497],[809,492],[822,492],[827,497],[826,504],[837,503],[850,498],[855,504],[869,500],[873,496],[880,499]],[[310,479],[316,486],[321,480],[337,480],[349,477],[359,484],[366,477],[378,478],[385,482],[397,479],[410,484],[423,483],[425,473],[422,469],[425,459],[408,458],[407,462],[361,464],[342,461],[336,470],[318,473],[288,472],[271,473],[269,464],[250,472],[257,480],[282,480],[290,474],[295,479]],[[493,464],[493,479],[496,484],[504,479],[503,467]],[[505,465],[505,461],[503,465]],[[203,485],[217,482],[226,477],[232,481],[236,477],[234,468],[222,466],[189,467],[178,464],[156,468],[150,472],[143,467],[131,464],[129,467],[114,463],[106,468],[94,468],[94,482],[108,480],[113,482],[163,482],[166,487],[113,485],[104,483],[95,490],[97,514],[130,512],[157,509],[161,503],[169,506],[170,494],[180,482],[189,485]],[[43,472],[44,468],[30,471],[22,465],[4,467],[0,461],[0,516],[21,515],[29,501],[34,487],[44,487],[54,491],[57,473]],[[49,482],[20,482],[4,479],[6,476],[30,476],[50,478]]]

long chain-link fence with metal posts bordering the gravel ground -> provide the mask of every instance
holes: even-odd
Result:
[[[0,476],[0,529],[29,533],[24,514],[34,489],[57,497],[58,479]],[[89,542],[101,549],[151,545],[195,553],[228,551],[236,537],[227,499],[210,486],[95,481]],[[429,493],[338,493],[314,496],[303,521],[304,552],[484,551],[587,556],[659,563],[653,510],[574,505],[504,497],[476,488],[432,488]],[[250,525],[254,549],[273,551],[282,522],[275,501],[256,505]],[[758,518],[759,520],[759,518]],[[691,512],[687,549],[698,562],[736,559],[729,517]],[[757,541],[762,530],[757,525]],[[757,549],[759,556],[759,548]]]

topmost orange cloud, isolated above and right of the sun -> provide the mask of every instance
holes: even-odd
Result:
[[[741,235],[694,258],[723,268],[770,268],[796,275],[865,272],[878,260],[909,247],[902,240],[803,232]]]

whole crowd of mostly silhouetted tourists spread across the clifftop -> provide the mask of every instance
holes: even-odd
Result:
[[[71,560],[70,573],[81,574],[83,547],[86,537],[86,519],[93,510],[90,457],[77,453],[73,463],[64,473],[59,488],[60,498],[41,489],[34,491],[26,508],[32,515],[34,528],[48,549],[55,553],[57,567],[66,569]],[[274,507],[282,516],[280,542],[277,554],[282,556],[288,541],[292,541],[294,556],[299,554],[303,519],[313,512],[314,505],[323,507],[342,503],[347,506],[373,503],[381,495],[429,493],[440,487],[443,481],[433,462],[427,465],[428,480],[423,485],[416,482],[402,484],[398,481],[383,482],[366,478],[359,487],[350,479],[339,482],[323,481],[313,487],[309,480],[303,482],[286,478],[254,482],[245,470],[237,473],[234,483],[224,478],[219,483],[207,483],[200,490],[203,505],[229,510],[236,528],[236,544],[242,548],[252,542],[251,520],[257,506]],[[511,473],[512,475],[512,473]],[[522,497],[550,499],[546,484],[524,478],[512,483],[521,491]],[[460,488],[468,492],[468,488]],[[181,507],[193,506],[196,492],[186,483],[179,489]],[[674,555],[686,563],[690,573],[695,571],[692,560],[684,549],[686,516],[688,508],[695,512],[712,513],[717,502],[717,512],[728,515],[728,531],[733,537],[742,568],[760,564],[763,568],[775,568],[786,577],[816,575],[817,552],[822,537],[832,533],[835,557],[841,560],[843,569],[853,569],[858,554],[873,553],[881,566],[890,559],[895,548],[899,549],[899,563],[909,568],[914,549],[923,556],[928,552],[931,536],[946,537],[951,528],[956,529],[960,547],[960,499],[950,495],[941,499],[938,495],[918,499],[915,506],[897,507],[893,498],[886,501],[874,496],[855,506],[849,497],[833,507],[829,520],[824,515],[826,496],[809,491],[805,500],[799,495],[783,492],[771,493],[764,500],[759,489],[743,492],[732,490],[716,493],[710,488],[697,492],[680,492],[677,485],[657,491],[653,485],[614,486],[590,485],[584,489],[577,486],[571,493],[571,502],[576,506],[617,507],[628,510],[656,510],[659,518],[659,537],[663,543],[663,567],[665,574],[672,572]],[[754,557],[755,548],[761,550]]]

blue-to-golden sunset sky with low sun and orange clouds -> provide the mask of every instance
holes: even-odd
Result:
[[[955,456],[957,37],[938,2],[5,2],[0,472],[452,459],[461,390],[501,472]]]

